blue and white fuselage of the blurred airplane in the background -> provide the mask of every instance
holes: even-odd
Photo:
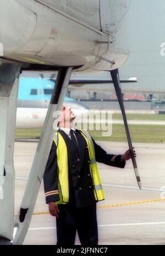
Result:
[[[17,105],[17,129],[37,129],[43,126],[52,97],[54,82],[43,78],[20,78]],[[65,106],[70,106],[74,114],[87,113],[89,108],[77,100],[64,98]]]

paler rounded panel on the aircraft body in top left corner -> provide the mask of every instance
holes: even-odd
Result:
[[[30,40],[37,16],[17,1],[1,0],[0,18],[0,42],[3,44],[4,55],[9,55],[17,52]]]

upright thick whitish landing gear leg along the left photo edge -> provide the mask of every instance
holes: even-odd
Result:
[[[0,64],[0,245],[13,239],[14,134],[21,63],[1,60]]]

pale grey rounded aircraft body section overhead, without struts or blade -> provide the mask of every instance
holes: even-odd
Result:
[[[4,57],[34,69],[35,65],[72,66],[85,72],[118,68],[129,56],[127,45],[123,46],[127,26],[122,26],[122,36],[115,29],[127,12],[129,2],[2,0],[0,38],[4,44]],[[10,17],[7,19],[8,13]],[[105,33],[101,31],[101,21]],[[114,30],[111,37],[109,33]]]

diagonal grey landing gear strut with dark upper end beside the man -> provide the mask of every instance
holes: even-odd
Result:
[[[12,244],[23,244],[27,230],[34,211],[38,191],[42,182],[48,155],[53,141],[53,113],[62,109],[63,100],[67,92],[69,79],[72,73],[72,67],[61,68],[58,72],[56,87],[54,86],[51,102],[47,111],[46,119],[42,128],[40,141],[38,142],[34,162],[32,163],[29,179],[27,181],[23,200],[21,202],[20,212],[15,227],[15,234]]]

